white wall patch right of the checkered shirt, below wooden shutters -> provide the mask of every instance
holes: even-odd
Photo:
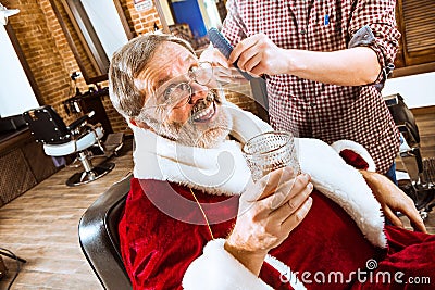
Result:
[[[409,108],[435,105],[435,72],[387,79],[383,96],[400,93]]]

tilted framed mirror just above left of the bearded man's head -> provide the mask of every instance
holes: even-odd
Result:
[[[87,84],[108,79],[113,52],[133,38],[120,0],[50,0]]]

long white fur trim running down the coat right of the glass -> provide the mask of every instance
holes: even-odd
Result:
[[[369,241],[385,248],[381,205],[362,175],[325,142],[308,138],[296,140],[300,168],[311,175],[314,187],[340,205]]]

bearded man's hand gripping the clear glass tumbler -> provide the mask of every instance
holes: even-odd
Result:
[[[261,178],[240,198],[239,213],[225,249],[258,274],[266,253],[279,245],[311,207],[310,176],[289,167]]]

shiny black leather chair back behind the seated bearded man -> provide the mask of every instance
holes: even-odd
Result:
[[[104,289],[132,289],[124,267],[117,224],[129,191],[129,174],[109,188],[88,207],[78,224],[82,251]]]

